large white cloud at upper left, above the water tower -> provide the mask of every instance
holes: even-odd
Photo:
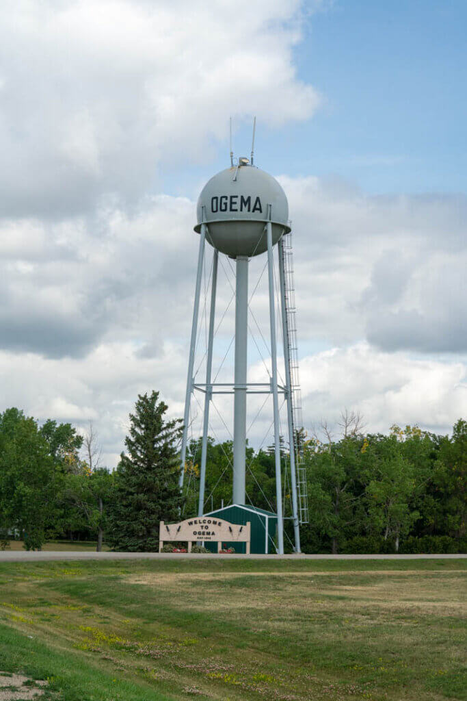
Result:
[[[292,60],[298,0],[11,0],[0,10],[6,215],[132,203],[155,169],[214,156],[228,116],[281,125],[319,104]]]

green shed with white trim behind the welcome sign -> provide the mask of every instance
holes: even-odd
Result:
[[[259,509],[257,506],[246,506],[244,504],[231,504],[221,509],[210,511],[204,516],[222,517],[231,524],[244,526],[246,522],[251,523],[251,545],[250,552],[254,554],[267,554],[276,552],[277,514],[272,511]],[[217,552],[217,543],[204,543],[211,552]],[[227,543],[223,540],[223,549],[235,547],[235,552],[246,552],[246,543]]]

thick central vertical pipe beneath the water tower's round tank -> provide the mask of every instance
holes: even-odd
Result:
[[[245,503],[248,258],[237,257],[235,297],[235,395],[233,503]]]

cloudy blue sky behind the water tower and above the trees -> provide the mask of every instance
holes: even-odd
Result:
[[[138,393],[183,414],[196,200],[228,165],[229,117],[248,156],[256,115],[293,224],[305,428],[337,436],[347,408],[372,432],[449,433],[467,418],[466,22],[461,0],[4,0],[0,409],[92,420],[109,468]],[[230,285],[224,259],[215,368]],[[250,381],[270,364],[266,293],[263,275]],[[225,439],[231,402],[213,409]]]

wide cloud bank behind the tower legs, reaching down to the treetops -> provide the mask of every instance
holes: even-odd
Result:
[[[462,219],[454,215],[459,199],[370,198],[338,182],[282,182],[294,217],[306,428],[320,418],[332,423],[349,407],[363,413],[368,430],[419,423],[447,433],[467,411],[459,323],[465,252],[458,236]],[[181,416],[199,240],[194,218],[193,201],[159,195],[141,198],[131,210],[109,198],[93,216],[60,222],[4,221],[4,406],[82,427],[93,418],[109,465],[123,448],[137,393],[160,389],[172,415]],[[457,224],[446,233],[449,221]],[[208,246],[207,278],[210,261]],[[251,292],[260,280],[249,346],[250,379],[258,382],[267,382],[270,362],[264,264],[264,257],[251,261]],[[215,372],[233,330],[232,285],[232,262],[222,257]],[[204,372],[205,326],[202,302],[198,377]],[[317,341],[328,350],[309,353],[309,343]],[[456,358],[433,357],[439,348],[456,351]],[[232,349],[218,381],[231,379],[231,355]],[[263,397],[251,398],[249,423],[262,403]],[[216,409],[211,433],[227,438],[229,398],[218,397]],[[266,404],[250,433],[256,446],[263,439],[270,444],[271,417]],[[193,418],[196,435],[196,402]]]

